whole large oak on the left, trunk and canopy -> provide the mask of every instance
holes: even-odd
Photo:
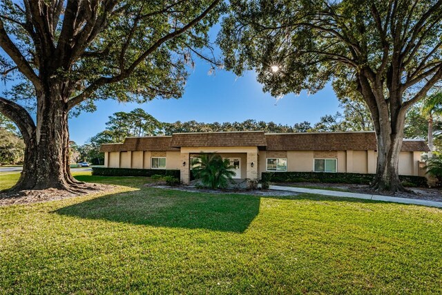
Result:
[[[0,73],[19,82],[0,97],[0,112],[26,143],[12,190],[81,189],[69,170],[68,115],[97,99],[180,97],[192,57],[212,60],[203,53],[220,8],[220,0],[2,0]]]

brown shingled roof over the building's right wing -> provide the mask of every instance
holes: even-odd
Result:
[[[374,132],[266,134],[267,151],[375,151]],[[402,151],[427,151],[421,140],[405,140]]]

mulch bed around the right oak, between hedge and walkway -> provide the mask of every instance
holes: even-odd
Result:
[[[412,192],[390,193],[388,191],[374,191],[365,184],[344,184],[344,183],[319,183],[319,182],[293,182],[293,183],[276,183],[275,185],[289,187],[317,187],[318,189],[334,187],[336,189],[345,189],[351,193],[368,193],[372,195],[392,196],[396,198],[409,198],[417,200],[429,200],[442,202],[442,190],[436,188],[423,187],[407,187]]]

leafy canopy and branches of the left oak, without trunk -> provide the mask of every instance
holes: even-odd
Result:
[[[65,81],[73,114],[94,111],[96,99],[181,97],[194,56],[219,65],[208,31],[222,9],[219,0],[1,1],[1,28],[15,43],[2,44],[14,54],[0,53],[3,79],[15,79],[4,94],[32,108],[49,75]]]

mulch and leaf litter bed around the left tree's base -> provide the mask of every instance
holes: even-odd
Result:
[[[90,193],[99,193],[102,191],[111,191],[115,189],[114,185],[88,183],[81,188],[82,192],[71,193],[60,189],[44,189],[39,191],[20,191],[18,193],[0,193],[0,206],[12,204],[31,204],[39,202],[48,202],[55,200],[64,200],[77,196],[86,196]]]

